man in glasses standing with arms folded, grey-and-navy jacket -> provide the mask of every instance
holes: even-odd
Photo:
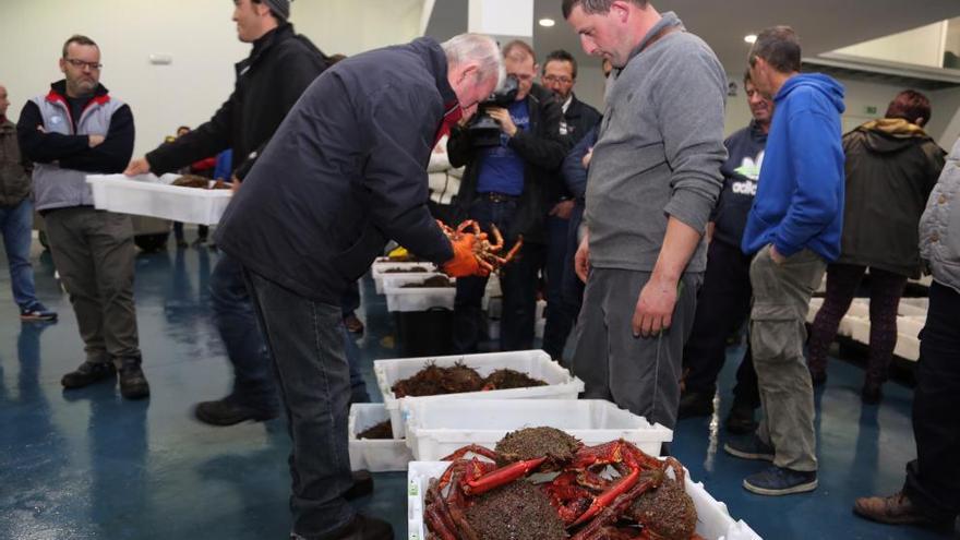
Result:
[[[133,304],[133,223],[94,208],[88,173],[122,172],[133,154],[133,115],[100,84],[100,49],[75,35],[63,44],[64,77],[24,106],[16,125],[35,163],[33,196],[44,216],[53,263],[76,313],[86,359],[63,375],[64,388],[113,381],[128,399],[149,395],[141,369]]]

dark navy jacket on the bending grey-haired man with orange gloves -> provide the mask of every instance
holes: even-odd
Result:
[[[427,165],[454,106],[446,56],[431,38],[337,63],[274,134],[220,219],[217,245],[333,305],[387,239],[434,263],[453,259],[427,209]]]

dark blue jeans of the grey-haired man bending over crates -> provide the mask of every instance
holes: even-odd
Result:
[[[340,305],[315,302],[247,272],[253,303],[274,359],[290,439],[293,532],[321,538],[346,526],[353,509],[347,452],[350,367]]]

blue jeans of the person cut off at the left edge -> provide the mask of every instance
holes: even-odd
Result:
[[[24,199],[16,206],[0,206],[0,231],[10,262],[10,285],[13,301],[26,308],[37,301],[34,271],[29,264],[31,229],[34,224],[34,206]]]

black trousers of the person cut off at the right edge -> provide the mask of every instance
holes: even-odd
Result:
[[[960,292],[934,281],[913,395],[916,459],[903,493],[933,520],[960,514]]]

